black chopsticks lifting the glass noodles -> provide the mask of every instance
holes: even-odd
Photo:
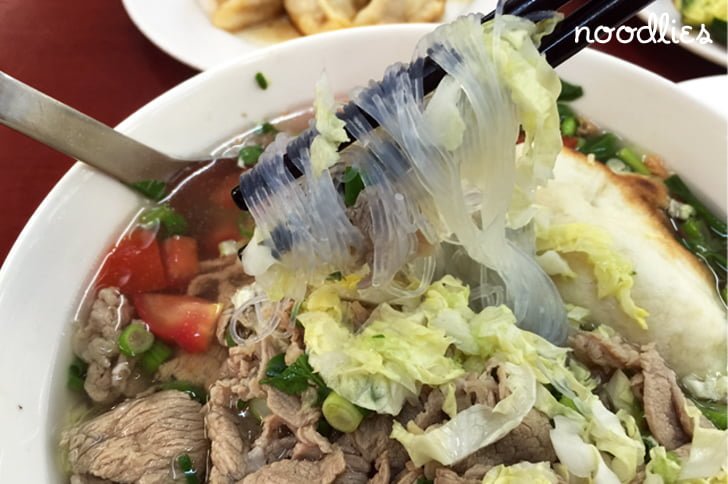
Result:
[[[503,13],[517,15],[520,17],[536,16],[544,12],[552,12],[570,0],[510,0],[503,5]],[[545,37],[539,50],[546,56],[549,64],[556,67],[571,56],[582,50],[588,44],[587,35],[577,35],[577,28],[584,27],[592,32],[600,26],[607,28],[617,28],[634,16],[637,12],[652,3],[654,0],[591,0],[584,6],[564,18],[556,27],[554,32]],[[483,17],[482,22],[493,19],[495,12]],[[445,71],[437,65],[431,58],[422,59],[422,82],[423,90],[429,94],[435,90],[440,81],[445,77]],[[361,111],[354,103],[346,104],[338,114],[339,118],[346,121],[346,113],[357,112],[363,115],[371,124],[372,129],[378,126],[375,119],[367,113]],[[347,131],[349,139],[354,140],[354,136]],[[294,178],[303,175],[301,170],[291,161],[289,154],[294,153],[293,150],[301,148],[302,143],[310,143],[313,138],[313,132],[309,129],[294,140],[287,150],[287,154],[283,158],[286,170]],[[349,141],[340,145],[339,149],[344,149],[353,141]],[[240,191],[240,186],[236,186],[232,190],[232,198],[235,204],[241,210],[247,210],[247,205]]]

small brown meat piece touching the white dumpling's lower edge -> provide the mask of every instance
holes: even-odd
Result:
[[[595,333],[579,331],[569,338],[576,358],[591,367],[601,369],[639,368],[640,353],[619,336],[604,338]]]

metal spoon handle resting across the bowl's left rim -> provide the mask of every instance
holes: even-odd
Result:
[[[0,123],[124,183],[167,181],[184,167],[2,71]]]

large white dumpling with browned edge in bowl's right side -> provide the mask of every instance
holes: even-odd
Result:
[[[632,265],[629,289],[643,308],[646,329],[617,298],[599,297],[593,261],[579,251],[559,252],[568,267],[551,271],[564,302],[585,307],[594,322],[607,324],[629,340],[655,342],[679,377],[726,373],[726,312],[713,275],[673,236],[660,207],[667,203],[659,181],[618,175],[573,151],[559,156],[554,179],[536,203],[546,224],[596,227],[611,239],[613,253]],[[578,238],[577,235],[575,238]],[[557,271],[558,272],[558,271]]]

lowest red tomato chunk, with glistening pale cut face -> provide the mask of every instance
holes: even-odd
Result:
[[[192,296],[140,294],[133,301],[155,336],[190,353],[207,350],[222,311],[222,304]]]

